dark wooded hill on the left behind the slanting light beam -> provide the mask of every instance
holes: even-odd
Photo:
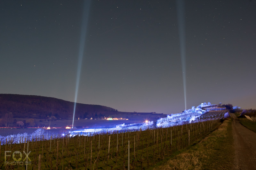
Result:
[[[0,94],[0,117],[12,113],[13,118],[54,118],[73,119],[74,102],[52,97]],[[76,103],[78,118],[102,118],[116,113],[117,110],[100,105]]]

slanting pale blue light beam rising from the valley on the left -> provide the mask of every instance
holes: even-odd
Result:
[[[91,1],[84,0],[84,8],[83,8],[82,24],[81,24],[80,46],[79,46],[79,52],[78,52],[78,65],[77,65],[77,74],[76,74],[76,92],[75,92],[75,103],[74,103],[72,128],[74,125],[74,118],[75,118],[75,112],[76,112],[76,99],[77,99],[77,93],[78,93],[78,87],[79,87],[79,81],[80,81],[80,73],[81,73],[82,61],[83,61],[83,55],[84,55],[84,45],[85,45],[86,29],[87,29],[88,18],[89,18],[88,15],[89,15],[89,10],[90,10],[90,4],[91,4]]]

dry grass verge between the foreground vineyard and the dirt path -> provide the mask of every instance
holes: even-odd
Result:
[[[200,143],[189,147],[154,170],[232,169],[234,150],[231,121],[225,120],[219,129]]]

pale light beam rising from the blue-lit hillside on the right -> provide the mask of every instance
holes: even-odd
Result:
[[[185,2],[184,0],[176,0],[178,28],[180,37],[180,56],[181,69],[183,78],[183,91],[185,100],[185,109],[187,110],[187,93],[186,93],[186,30],[185,30]]]

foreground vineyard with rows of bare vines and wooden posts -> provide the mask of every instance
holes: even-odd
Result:
[[[18,142],[5,138],[0,145],[0,169],[24,169],[25,164],[27,169],[147,169],[201,140],[219,125],[220,119],[208,118],[143,131],[20,137]]]

